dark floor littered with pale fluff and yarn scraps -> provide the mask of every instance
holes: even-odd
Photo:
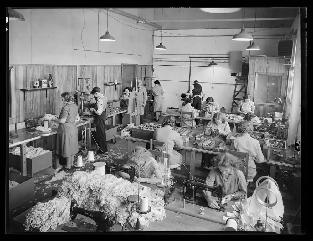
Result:
[[[163,118],[164,118],[164,116],[160,117],[160,120],[158,123],[162,123]],[[151,121],[150,115],[147,115],[145,117],[144,121],[145,121],[145,123],[146,122],[155,123],[154,121]],[[232,129],[232,126],[231,126],[231,129]],[[203,130],[202,126],[199,126],[197,128],[197,130]],[[134,145],[146,147],[146,144],[144,144],[144,143],[135,143]],[[95,144],[92,146],[92,148],[97,149]],[[108,149],[109,149],[109,151],[108,151],[107,155],[106,156],[104,154],[99,155],[100,160],[97,160],[97,161],[112,160],[115,163],[120,164],[120,165],[124,164],[127,161],[127,142],[125,140],[117,139],[116,144],[108,142]],[[78,153],[77,155],[81,155],[81,153]],[[185,165],[189,166],[189,164],[190,164],[190,153],[187,153],[186,157],[183,157],[182,162]],[[52,190],[58,190],[58,188],[62,185],[62,182],[68,176],[70,176],[73,172],[75,172],[75,171],[91,171],[94,163],[95,162],[86,163],[85,167],[83,167],[83,168],[80,168],[80,169],[73,168],[73,170],[67,171],[68,175],[65,176],[61,180],[51,181],[51,177],[50,177],[46,180],[43,180],[43,181],[36,183],[35,184],[34,199],[23,203],[22,205],[14,208],[13,210],[11,210],[9,212],[9,218],[10,218],[9,232],[10,233],[24,232],[23,227],[16,226],[14,223],[12,223],[12,220],[15,216],[26,211],[28,208],[33,207],[33,205],[36,205],[38,202],[41,202],[44,199],[50,197]],[[199,167],[200,164],[201,164],[201,153],[198,153],[196,155],[196,167]],[[177,170],[175,172],[177,172]],[[187,170],[183,167],[183,165],[182,165],[181,172],[182,172],[182,174],[185,174],[185,175],[188,174]],[[179,181],[177,180],[177,187],[180,186],[180,183],[178,183],[180,181],[181,180],[179,180]],[[284,224],[283,224],[284,229],[282,230],[282,233],[287,233],[286,223],[291,223],[291,221],[292,221],[293,217],[295,216],[298,208],[300,207],[300,203],[295,203],[293,201],[292,193],[290,193],[288,191],[283,191],[283,190],[280,190],[280,191],[281,191],[281,194],[283,197],[283,202],[285,205],[284,206],[284,209],[285,209]],[[297,223],[297,224],[300,224],[300,223]]]

